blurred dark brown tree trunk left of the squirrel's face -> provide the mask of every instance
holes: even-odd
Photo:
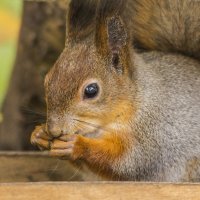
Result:
[[[17,57],[0,124],[1,150],[32,149],[30,134],[45,121],[43,80],[64,48],[67,2],[24,2]]]

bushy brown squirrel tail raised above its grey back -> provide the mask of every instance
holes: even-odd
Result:
[[[134,44],[200,58],[200,1],[127,0],[125,4],[123,14]]]

